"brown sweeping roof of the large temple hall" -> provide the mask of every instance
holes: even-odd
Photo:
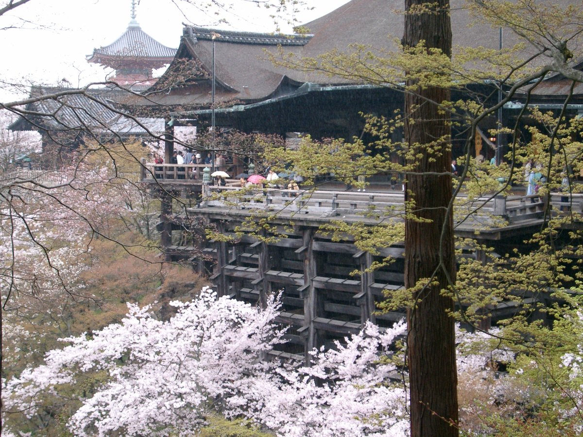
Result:
[[[571,0],[557,0],[566,5]],[[300,71],[274,65],[267,52],[283,52],[297,58],[317,58],[326,52],[346,52],[350,44],[363,44],[383,56],[397,49],[395,40],[403,35],[402,0],[352,0],[310,23],[304,24],[307,37],[229,32],[217,29],[185,26],[177,58],[195,59],[207,72],[212,71],[215,45],[216,102],[239,101],[252,104],[285,94],[294,93],[304,83],[320,86],[359,84],[355,80],[326,76],[314,71]],[[499,30],[486,23],[474,23],[464,0],[451,0],[453,44],[486,47],[496,50],[500,44]],[[213,34],[219,34],[212,40]],[[517,36],[504,33],[504,47],[517,43]],[[531,50],[528,46],[525,50]],[[526,55],[526,52],[525,54]],[[168,69],[171,74],[172,66]],[[210,81],[172,89],[160,96],[150,96],[142,104],[199,105],[210,103]],[[155,87],[153,90],[155,90]],[[166,90],[167,91],[167,90]],[[138,103],[139,104],[139,103]]]

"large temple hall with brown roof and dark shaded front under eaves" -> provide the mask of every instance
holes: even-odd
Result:
[[[489,24],[474,23],[468,9],[462,6],[461,0],[452,0],[454,46],[498,50],[517,44],[518,37],[510,30],[503,29],[502,33]],[[382,77],[376,83],[367,83],[356,75],[325,75],[315,68],[302,68],[299,60],[318,59],[331,51],[353,52],[355,62],[361,59],[361,66],[366,68],[367,51],[386,58],[400,50],[395,40],[403,34],[403,15],[395,11],[402,8],[402,2],[394,0],[352,0],[289,35],[185,26],[174,62],[160,78],[163,86],[159,86],[159,94],[152,94],[157,89],[154,85],[147,99],[134,99],[132,103],[153,109],[174,107],[177,118],[197,119],[201,127],[216,125],[219,129],[248,133],[275,133],[290,140],[305,133],[315,139],[363,138],[361,112],[392,117],[403,107],[402,87],[384,83]],[[365,47],[360,54],[357,45]],[[532,47],[525,47],[516,55],[526,58],[531,52]],[[298,68],[282,62],[283,57],[295,60]],[[185,68],[185,63],[190,67]],[[484,65],[476,68],[485,68]],[[182,77],[181,83],[169,88],[173,77]],[[559,79],[557,76],[541,83],[531,93],[529,103],[550,104],[547,108],[560,110],[559,102],[569,91],[568,87],[557,86]],[[458,98],[477,98],[491,107],[499,97],[496,85],[484,80],[452,89],[452,100]],[[583,85],[577,84],[566,107],[568,117],[578,115],[582,102]],[[495,114],[480,122],[478,132],[485,158],[491,158],[497,146],[504,147],[508,142],[505,135],[492,141],[489,130],[496,128],[498,122],[511,123],[518,112],[516,107],[507,105],[498,116],[501,120]],[[466,128],[461,126],[459,131]],[[393,139],[401,138],[401,133],[395,131]],[[455,156],[463,154],[465,143],[466,139],[456,138],[454,132]]]

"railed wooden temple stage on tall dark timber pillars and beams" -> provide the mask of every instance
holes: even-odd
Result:
[[[334,220],[370,225],[402,221],[400,190],[370,185],[366,192],[343,188],[241,191],[236,186],[203,185],[201,178],[179,179],[184,169],[163,171],[172,178],[154,179],[153,172],[144,168],[142,182],[161,199],[159,230],[167,259],[192,263],[196,271],[209,276],[219,295],[265,302],[266,295],[281,290],[279,321],[290,329],[286,350],[273,351],[273,355],[309,359],[307,351],[358,332],[366,320],[388,327],[405,316],[404,311],[375,312],[385,292],[403,287],[403,245],[371,253],[357,248],[351,237],[332,241],[332,235],[321,231],[322,225]],[[173,199],[175,203],[180,199],[181,205],[174,205],[174,212]],[[468,200],[458,196],[455,234],[507,253],[540,230],[548,202],[553,214],[581,217],[582,195],[571,196],[568,203],[564,200],[560,193],[546,199],[497,195]],[[482,206],[472,213],[477,205]],[[572,211],[561,211],[561,207]],[[245,221],[261,220],[269,224],[268,229],[242,231]],[[230,238],[201,237],[194,229],[201,221]],[[583,227],[583,221],[577,223]],[[387,256],[391,263],[367,271]],[[476,251],[464,251],[462,256],[486,259]],[[501,303],[493,309],[493,318],[518,309]]]

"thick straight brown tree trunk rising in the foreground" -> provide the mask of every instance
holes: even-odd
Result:
[[[406,10],[422,0],[405,0]],[[451,56],[449,1],[437,0],[434,13],[405,16],[405,47],[421,40]],[[408,84],[415,84],[412,75]],[[454,320],[448,310],[451,298],[441,295],[455,281],[454,232],[447,207],[452,196],[449,119],[438,104],[449,100],[448,89],[417,89],[405,97],[405,141],[422,158],[413,158],[415,170],[407,176],[406,199],[413,200],[414,216],[405,225],[405,286],[420,280],[430,284],[415,291],[415,307],[408,312],[408,366],[410,377],[411,435],[458,435],[457,371]],[[441,142],[436,153],[436,140]],[[424,145],[430,145],[426,147]],[[412,162],[410,162],[412,163]],[[441,174],[441,175],[439,175]],[[448,279],[449,276],[449,279]]]

